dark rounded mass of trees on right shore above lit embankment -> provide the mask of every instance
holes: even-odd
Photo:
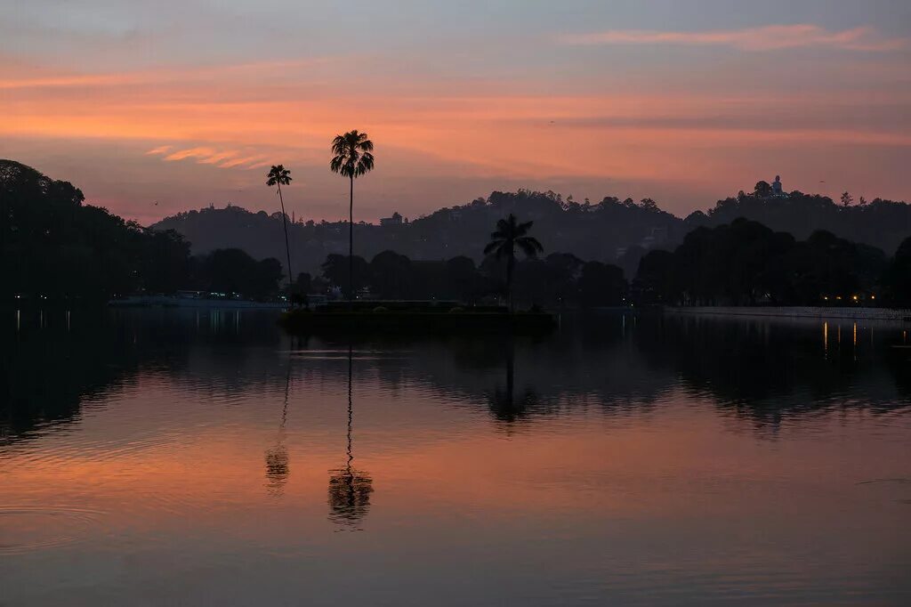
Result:
[[[650,252],[640,262],[635,286],[640,300],[661,304],[898,303],[907,295],[906,252],[909,241],[890,266],[879,249],[828,231],[797,241],[738,219],[691,231],[674,252]]]

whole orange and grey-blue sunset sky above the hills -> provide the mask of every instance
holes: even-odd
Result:
[[[907,0],[2,0],[0,158],[142,223],[228,202],[355,220],[492,190],[911,201]]]

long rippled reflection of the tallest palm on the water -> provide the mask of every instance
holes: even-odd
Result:
[[[348,346],[348,461],[344,468],[330,470],[329,520],[357,530],[357,525],[370,510],[370,494],[374,480],[353,467],[352,451],[353,400],[352,400],[352,346]]]

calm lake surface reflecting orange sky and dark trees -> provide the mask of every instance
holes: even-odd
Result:
[[[900,325],[7,312],[0,604],[911,604]]]

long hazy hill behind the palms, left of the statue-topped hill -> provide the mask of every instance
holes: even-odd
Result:
[[[626,257],[633,272],[647,249],[679,242],[686,231],[681,219],[651,201],[607,198],[589,204],[564,201],[550,191],[519,190],[493,192],[486,200],[440,209],[415,221],[359,223],[354,228],[354,252],[367,260],[394,250],[415,261],[465,255],[480,262],[496,220],[510,212],[522,221],[535,221],[533,231],[546,252],[573,252],[605,262]],[[208,208],[182,212],[151,227],[183,234],[194,253],[240,247],[257,258],[284,254],[279,212]],[[328,254],[348,251],[347,223],[342,221],[298,221],[289,232],[295,272],[315,273]]]

